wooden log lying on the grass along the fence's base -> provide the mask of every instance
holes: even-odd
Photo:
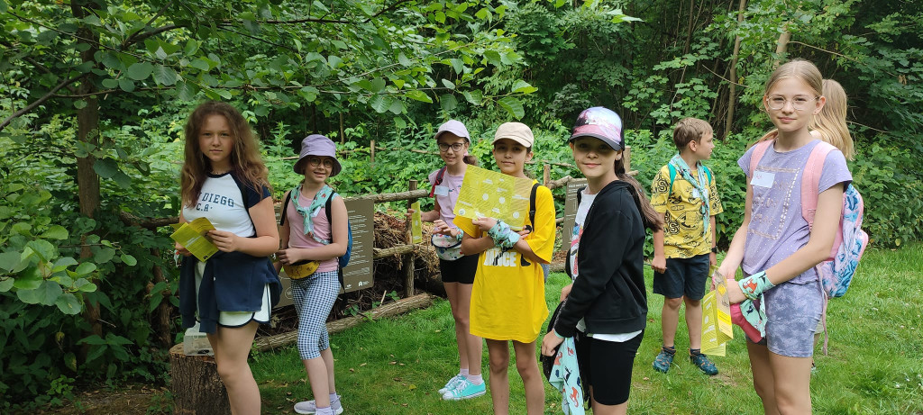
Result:
[[[418,308],[426,308],[430,305],[433,305],[433,302],[436,301],[436,298],[437,297],[435,295],[424,292],[422,294],[414,295],[413,297],[402,298],[396,302],[389,302],[387,304],[380,305],[377,308],[364,313],[363,315],[356,315],[353,317],[346,317],[331,321],[327,324],[327,332],[329,334],[336,334],[346,330],[347,328],[359,326],[359,324],[364,321],[368,321],[369,319],[374,320],[381,317],[391,317],[394,315],[404,314]],[[253,342],[253,350],[266,351],[278,349],[293,344],[297,340],[297,330],[289,331],[275,336],[257,338]],[[182,352],[183,349],[181,347],[180,353],[182,354]],[[171,355],[172,354],[173,353],[171,350]],[[227,399],[227,397],[225,397],[225,399]]]

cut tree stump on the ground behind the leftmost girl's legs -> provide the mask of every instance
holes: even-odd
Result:
[[[170,349],[170,389],[174,414],[226,415],[231,413],[228,393],[218,377],[213,356],[186,356],[183,343]]]

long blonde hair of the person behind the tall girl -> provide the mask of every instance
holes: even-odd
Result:
[[[823,80],[823,96],[827,103],[823,105],[821,113],[811,119],[809,128],[817,131],[821,139],[839,148],[847,160],[856,156],[853,146],[853,137],[849,135],[846,127],[846,91],[839,82],[833,79]]]

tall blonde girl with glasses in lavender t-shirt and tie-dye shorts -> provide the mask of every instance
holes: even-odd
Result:
[[[808,414],[814,331],[824,294],[814,267],[830,255],[843,195],[852,181],[846,160],[833,148],[823,160],[813,226],[801,214],[801,181],[811,151],[829,146],[810,133],[827,99],[822,77],[808,61],[779,66],[766,83],[763,108],[777,132],[737,160],[748,178],[743,223],[719,273],[732,279],[732,303],[762,338],[747,340],[753,386],[766,413]],[[765,148],[762,156],[754,153]],[[751,163],[751,159],[757,161]],[[755,164],[755,165],[754,165]],[[744,279],[734,283],[737,267]]]

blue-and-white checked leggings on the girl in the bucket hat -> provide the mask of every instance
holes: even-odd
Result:
[[[320,350],[330,347],[326,322],[339,293],[340,280],[335,270],[292,280],[294,309],[298,312],[298,353],[303,360],[318,358]]]

